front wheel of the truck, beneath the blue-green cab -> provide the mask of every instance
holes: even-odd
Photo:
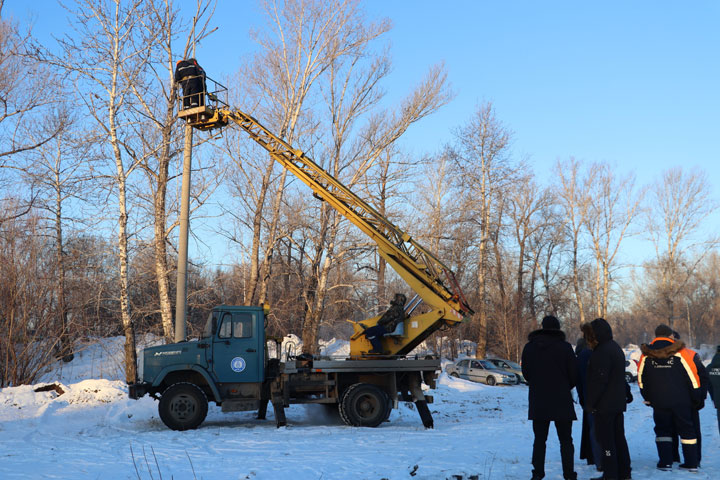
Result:
[[[172,430],[197,428],[207,415],[207,397],[192,383],[170,385],[160,397],[160,419]]]

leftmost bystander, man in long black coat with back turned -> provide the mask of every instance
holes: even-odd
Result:
[[[545,477],[545,443],[550,422],[555,422],[563,477],[575,480],[572,422],[577,417],[570,392],[577,383],[577,360],[557,318],[543,318],[542,329],[528,335],[522,352],[522,371],[530,387],[528,419],[533,422],[535,434],[532,478]]]

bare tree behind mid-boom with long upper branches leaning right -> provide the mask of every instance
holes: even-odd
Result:
[[[325,168],[349,188],[357,185],[369,171],[374,171],[373,167],[377,167],[380,177],[387,180],[389,160],[392,158],[387,156],[390,153],[388,149],[413,123],[431,114],[449,99],[444,70],[441,66],[431,68],[427,77],[395,111],[371,115],[355,135],[356,125],[372,112],[382,98],[378,85],[389,72],[388,58],[385,55],[375,57],[368,66],[363,66],[362,60],[368,57],[370,42],[384,31],[384,28],[374,26],[360,29],[360,37],[350,37],[355,47],[333,58],[327,69],[326,103],[331,133],[323,154],[328,159]],[[389,193],[387,186],[381,186],[381,192]],[[381,208],[387,206],[385,202],[386,199],[383,199]],[[302,332],[303,348],[310,353],[315,353],[317,349],[330,272],[335,262],[342,262],[354,250],[353,245],[341,248],[338,242],[338,232],[344,222],[325,202],[320,205],[320,218],[315,222],[319,225],[319,235],[314,242],[311,278],[304,293],[307,311]]]

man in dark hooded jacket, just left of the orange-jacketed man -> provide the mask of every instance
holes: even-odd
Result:
[[[625,354],[604,318],[584,324],[582,332],[593,350],[588,361],[585,409],[593,415],[595,437],[602,450],[603,476],[598,479],[628,479],[630,452],[623,415],[628,400]]]

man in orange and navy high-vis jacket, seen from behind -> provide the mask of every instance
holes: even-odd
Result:
[[[645,404],[653,408],[657,467],[672,469],[672,435],[677,431],[685,460],[680,468],[696,471],[699,461],[693,408],[703,402],[706,391],[698,374],[695,352],[686,349],[682,341],[674,340],[672,332],[670,327],[660,325],[655,329],[656,338],[640,347],[643,355],[638,385]]]

